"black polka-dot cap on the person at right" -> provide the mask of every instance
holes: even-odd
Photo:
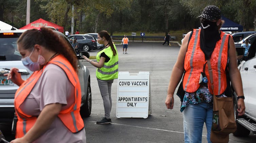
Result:
[[[220,9],[215,5],[208,5],[204,8],[202,14],[198,18],[204,18],[209,21],[220,19]]]

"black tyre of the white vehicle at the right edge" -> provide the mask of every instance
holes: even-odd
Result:
[[[235,120],[236,119],[240,119],[240,118],[245,118],[245,116],[238,116],[238,112],[237,112],[237,97],[236,94],[234,95],[234,112],[235,112]],[[250,134],[250,130],[248,130],[247,128],[245,128],[244,126],[242,126],[241,124],[239,124],[236,121],[236,132],[233,133],[234,136],[236,137],[245,137],[248,136]]]

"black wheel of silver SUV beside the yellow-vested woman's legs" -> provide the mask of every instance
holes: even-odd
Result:
[[[86,93],[86,100],[84,101],[84,105],[80,108],[80,115],[81,117],[89,117],[91,115],[92,110],[92,93],[91,93],[91,85],[88,81],[87,85],[87,93]]]

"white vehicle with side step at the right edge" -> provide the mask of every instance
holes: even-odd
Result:
[[[236,47],[238,55],[244,53],[244,48]],[[243,52],[239,54],[239,51],[243,49]],[[252,132],[256,134],[256,40],[251,43],[249,49],[248,58],[240,57],[240,59],[246,59],[241,61],[238,69],[241,73],[243,92],[244,92],[244,103],[245,103],[245,114],[238,116],[236,112],[237,130],[233,133],[234,136],[247,136]],[[239,56],[237,56],[239,57]],[[235,96],[234,109],[237,109],[237,99]]]

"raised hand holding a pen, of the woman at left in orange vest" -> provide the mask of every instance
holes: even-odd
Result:
[[[18,73],[17,68],[11,68],[9,73],[4,74],[4,76],[7,76],[7,80],[11,79],[13,81],[13,83],[15,83],[16,85],[20,86],[22,84],[22,82],[24,82],[24,80],[21,78],[20,73]]]

